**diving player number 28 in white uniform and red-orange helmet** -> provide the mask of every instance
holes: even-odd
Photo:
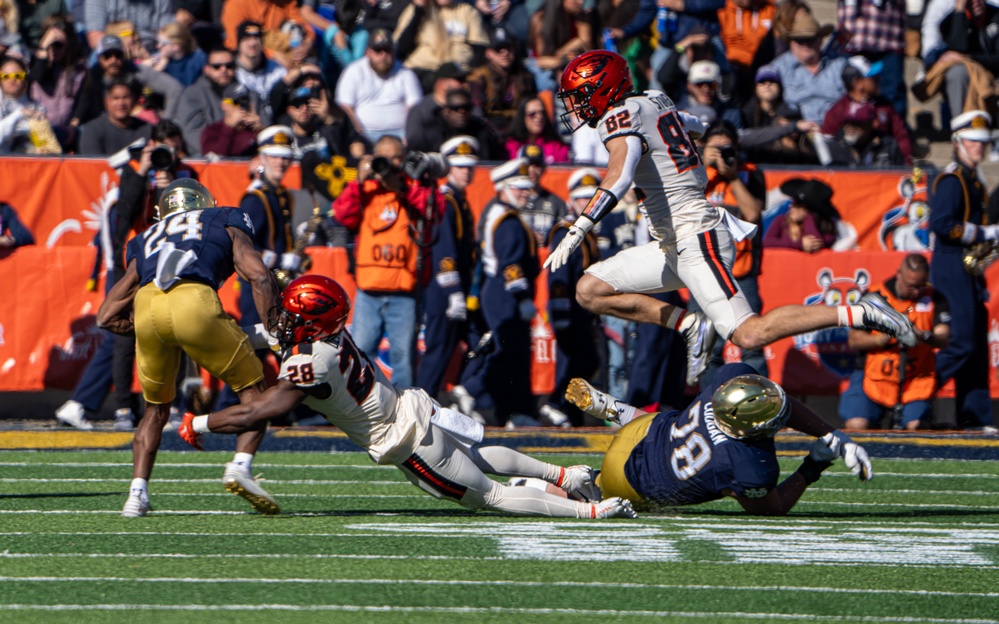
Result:
[[[376,463],[397,466],[436,498],[521,515],[636,517],[625,499],[599,500],[589,466],[563,468],[505,447],[478,446],[483,429],[474,420],[442,408],[419,388],[397,389],[344,330],[349,312],[347,293],[332,279],[303,275],[291,282],[272,331],[284,349],[277,384],[251,403],[208,416],[185,414],[178,433],[198,447],[203,432],[250,429],[304,401]],[[572,498],[502,485],[486,472],[543,479]]]

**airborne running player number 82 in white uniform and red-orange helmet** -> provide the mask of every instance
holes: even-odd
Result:
[[[704,127],[680,112],[660,91],[634,93],[628,64],[618,54],[594,50],[576,57],[562,74],[558,97],[570,131],[597,128],[610,152],[607,176],[545,267],[558,268],[586,233],[634,183],[654,241],[626,249],[586,271],[576,297],[586,309],[680,331],[687,342],[687,382],[696,384],[716,332],[743,349],[824,327],[863,327],[915,345],[905,316],[879,295],[858,305],[788,305],[754,314],[732,277],[733,240],[755,226],[712,206],[704,195],[707,174],[691,138]],[[686,312],[644,293],[689,288],[704,313]]]

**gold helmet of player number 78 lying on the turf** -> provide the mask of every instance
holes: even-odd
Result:
[[[730,438],[772,438],[780,431],[791,409],[780,386],[761,375],[729,379],[711,396],[715,423]]]

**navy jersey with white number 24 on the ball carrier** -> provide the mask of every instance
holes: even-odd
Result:
[[[237,208],[176,212],[129,241],[126,262],[135,259],[140,287],[152,282],[166,290],[185,279],[218,290],[235,271],[227,227],[253,237],[253,224]]]

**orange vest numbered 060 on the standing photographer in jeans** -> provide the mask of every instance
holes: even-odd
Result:
[[[366,291],[413,292],[416,243],[409,235],[409,214],[395,191],[374,180],[361,188],[364,201],[354,252],[357,287]]]

